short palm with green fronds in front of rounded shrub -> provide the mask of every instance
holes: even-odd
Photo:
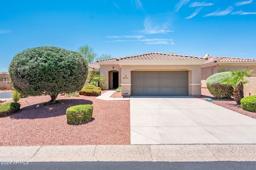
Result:
[[[240,95],[238,92],[238,88],[240,87],[240,84],[246,84],[248,81],[244,80],[243,76],[240,75],[234,75],[232,77],[226,77],[221,84],[231,86],[233,90],[234,99],[236,101],[236,104],[240,105]]]

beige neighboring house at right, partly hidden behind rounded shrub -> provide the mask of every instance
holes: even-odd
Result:
[[[244,59],[234,57],[214,57],[206,54],[204,58],[208,60],[201,66],[201,83],[203,88],[206,87],[206,79],[215,73],[229,70],[254,69],[252,73],[256,74],[256,59]],[[244,95],[256,95],[256,75],[246,77],[249,83],[244,85]]]

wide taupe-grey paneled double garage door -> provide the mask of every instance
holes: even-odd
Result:
[[[132,71],[132,96],[187,96],[188,71]]]

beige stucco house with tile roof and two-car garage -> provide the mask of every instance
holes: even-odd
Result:
[[[104,75],[106,89],[121,86],[122,95],[200,96],[206,59],[152,52],[88,63],[88,73]]]

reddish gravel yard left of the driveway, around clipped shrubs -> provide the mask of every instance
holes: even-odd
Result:
[[[20,99],[20,112],[0,118],[0,146],[130,144],[130,101],[59,95],[60,104],[43,105],[49,100],[50,96]],[[67,124],[66,109],[81,104],[94,106],[94,120]]]

